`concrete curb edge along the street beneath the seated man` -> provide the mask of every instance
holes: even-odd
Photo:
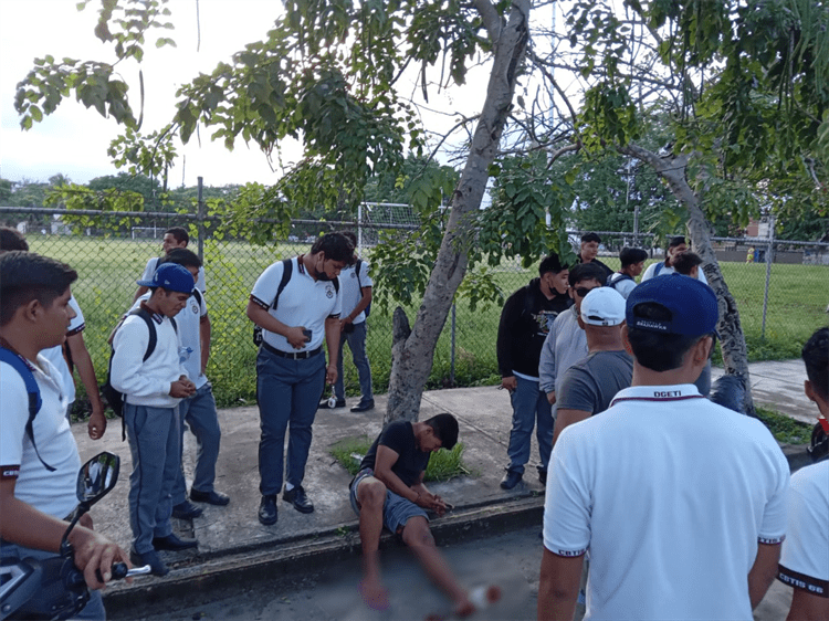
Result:
[[[544,496],[528,494],[503,503],[455,508],[431,524],[437,544],[458,544],[524,528],[541,528]],[[399,537],[385,534],[380,547],[402,546]],[[227,592],[239,593],[254,581],[267,580],[274,590],[301,582],[308,573],[360,551],[357,523],[319,533],[313,537],[272,541],[266,547],[249,547],[195,562],[179,564],[165,578],[141,578],[132,586],[117,585],[104,593],[107,614],[128,615],[140,609],[143,614],[172,612],[198,606],[209,593],[211,600]],[[187,561],[185,561],[187,562]]]

